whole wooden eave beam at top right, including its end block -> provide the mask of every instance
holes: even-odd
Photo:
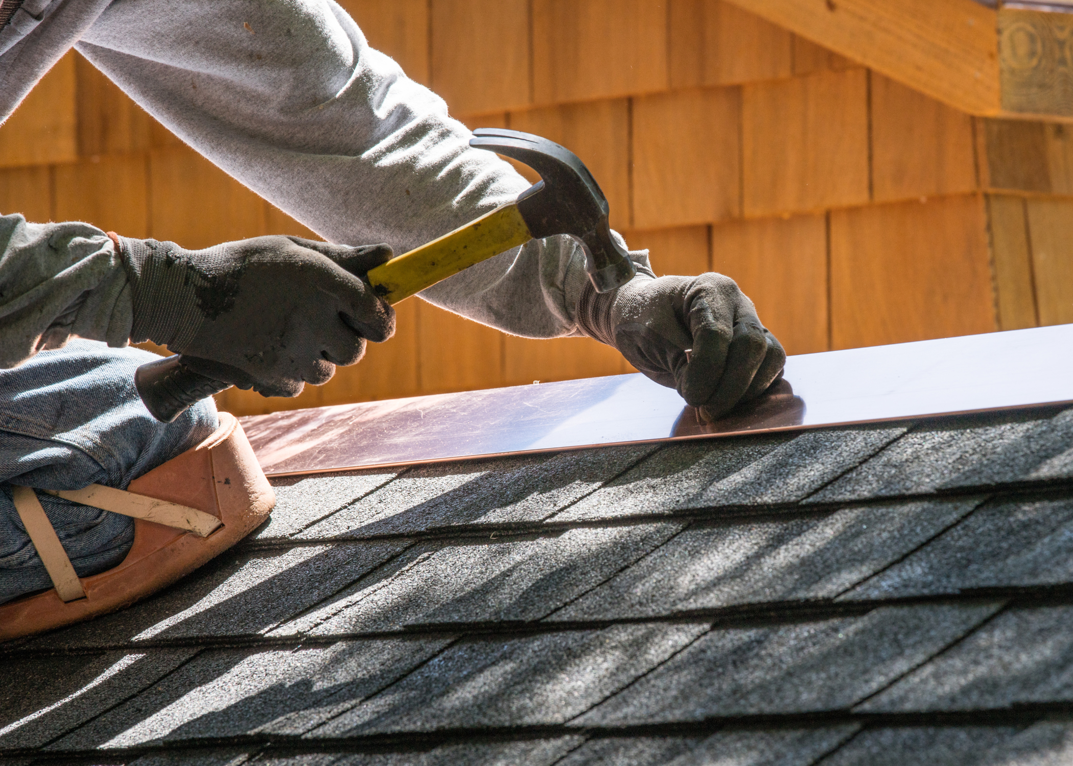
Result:
[[[725,1],[961,112],[1073,118],[1073,3]]]

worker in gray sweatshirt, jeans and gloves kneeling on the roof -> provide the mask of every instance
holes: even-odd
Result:
[[[332,0],[0,0],[0,120],[74,47],[183,142],[327,240],[262,236],[188,250],[91,223],[0,217],[2,603],[49,587],[12,484],[122,488],[217,425],[210,400],[171,425],[153,421],[133,374],[156,357],[129,343],[151,340],[265,396],[296,396],[356,363],[366,341],[392,336],[395,314],[364,280],[369,268],[529,183],[470,148],[446,104],[370,48]],[[708,419],[780,375],[784,353],[733,280],[656,278],[646,251],[630,255],[637,276],[597,294],[578,242],[548,237],[421,296],[517,336],[596,338]],[[129,549],[129,518],[44,502],[79,576]]]

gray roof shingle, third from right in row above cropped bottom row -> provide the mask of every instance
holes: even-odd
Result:
[[[707,628],[616,625],[464,640],[307,736],[563,723]]]

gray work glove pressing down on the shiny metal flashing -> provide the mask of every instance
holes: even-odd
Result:
[[[763,394],[787,354],[730,277],[637,275],[609,293],[586,283],[577,326],[696,407],[705,421]],[[691,350],[688,359],[686,351]]]

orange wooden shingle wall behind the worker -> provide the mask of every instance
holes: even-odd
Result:
[[[729,274],[792,354],[1073,322],[1068,126],[967,116],[717,0],[343,5],[466,124],[572,148],[657,274]],[[75,54],[0,129],[0,210],[187,247],[309,236]],[[587,339],[508,337],[416,299],[398,312],[397,336],[326,385],[221,404],[629,371]]]

